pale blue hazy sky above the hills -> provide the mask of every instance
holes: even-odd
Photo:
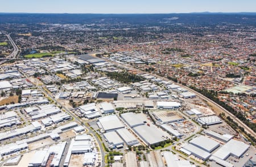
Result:
[[[0,12],[173,13],[256,12],[255,0],[0,0]]]

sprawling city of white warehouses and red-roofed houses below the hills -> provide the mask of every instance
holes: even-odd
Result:
[[[255,24],[174,20],[1,23],[0,165],[255,166]]]

